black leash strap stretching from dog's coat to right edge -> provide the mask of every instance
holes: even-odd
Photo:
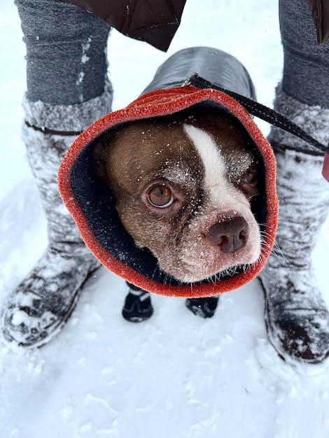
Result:
[[[233,99],[238,101],[239,104],[244,106],[244,108],[246,108],[248,113],[250,113],[251,115],[255,115],[255,117],[265,120],[265,122],[268,122],[271,125],[279,127],[284,131],[299,137],[300,139],[314,146],[314,148],[321,150],[321,152],[323,153],[329,153],[328,146],[323,146],[323,144],[319,143],[318,141],[316,141],[316,139],[309,136],[307,132],[304,132],[302,128],[295,125],[295,123],[291,122],[284,115],[277,113],[271,108],[267,108],[267,106],[265,105],[258,104],[258,102],[254,101],[253,99],[249,99],[248,97],[242,96],[242,94],[238,94],[234,91],[226,90],[219,85],[209,82],[209,80],[201,78],[197,73],[191,74],[190,77],[186,80],[185,84],[194,85],[195,87],[202,90],[210,88],[228,94],[228,96],[232,97]]]

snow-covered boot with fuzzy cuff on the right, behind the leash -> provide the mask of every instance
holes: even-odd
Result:
[[[328,143],[329,110],[301,104],[280,88],[276,108]],[[269,141],[276,154],[280,206],[279,248],[259,275],[267,332],[285,360],[317,363],[329,355],[329,311],[311,265],[311,252],[329,209],[329,185],[321,176],[323,156],[276,129]]]

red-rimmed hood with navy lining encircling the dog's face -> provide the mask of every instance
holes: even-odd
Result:
[[[258,274],[270,253],[269,248],[272,248],[274,243],[277,199],[275,178],[273,179],[275,164],[272,149],[260,134],[250,115],[244,108],[240,108],[234,99],[226,96],[222,101],[221,92],[196,90],[195,87],[158,90],[149,93],[153,96],[149,94],[141,96],[124,110],[110,113],[78,137],[59,171],[59,190],[64,203],[76,220],[80,234],[92,253],[105,267],[125,280],[161,295],[204,297],[235,289]],[[199,96],[197,97],[196,94]],[[176,99],[172,99],[173,95],[180,101],[179,105]],[[150,102],[153,102],[153,108],[150,107]],[[157,102],[160,105],[156,106]],[[165,110],[161,107],[162,104],[165,104]],[[258,262],[250,267],[237,267],[235,274],[221,276],[219,281],[216,278],[209,278],[197,283],[181,283],[160,271],[158,261],[151,251],[137,247],[130,234],[125,231],[116,211],[116,199],[111,189],[93,170],[92,150],[100,136],[116,132],[127,122],[190,111],[196,107],[227,111],[239,122],[244,134],[255,144],[260,190],[251,201],[251,210],[258,224],[262,224],[261,234],[264,236],[270,234],[270,237],[262,245]],[[238,111],[231,111],[231,108],[237,108]],[[272,197],[270,201],[269,197]]]

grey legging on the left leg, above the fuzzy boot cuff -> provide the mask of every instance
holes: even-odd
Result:
[[[79,104],[104,92],[104,20],[59,0],[16,0],[27,47],[27,99]]]

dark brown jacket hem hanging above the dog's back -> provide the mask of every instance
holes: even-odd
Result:
[[[122,34],[166,51],[181,23],[186,0],[64,0],[87,10]]]

